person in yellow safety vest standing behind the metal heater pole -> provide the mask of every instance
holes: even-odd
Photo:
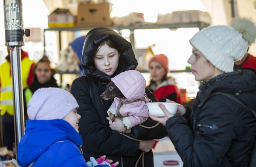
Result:
[[[13,150],[13,143],[15,142],[12,71],[10,63],[11,49],[11,47],[7,47],[8,55],[5,57],[7,61],[0,65],[0,114],[2,117],[2,138],[4,145],[8,150]],[[23,88],[32,83],[32,67],[34,64],[35,62],[29,59],[28,53],[21,49],[21,75]]]

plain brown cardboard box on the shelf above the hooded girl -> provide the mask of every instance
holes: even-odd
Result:
[[[111,26],[111,3],[78,4],[77,26]]]

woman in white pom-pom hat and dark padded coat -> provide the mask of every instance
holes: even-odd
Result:
[[[165,117],[150,115],[166,126],[185,167],[248,167],[256,139],[256,74],[233,71],[233,65],[255,39],[256,26],[247,18],[190,39],[188,63],[202,82],[193,108],[179,106],[172,115],[160,105]]]

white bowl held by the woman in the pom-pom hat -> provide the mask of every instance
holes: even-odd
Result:
[[[159,103],[163,104],[167,111],[169,111],[171,114],[175,114],[178,106],[180,104],[177,103],[163,103],[163,102],[154,102],[154,103],[146,103],[146,106],[149,109],[149,113],[153,116],[164,116],[164,112],[160,109]]]

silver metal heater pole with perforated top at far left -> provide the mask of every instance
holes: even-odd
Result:
[[[24,45],[24,30],[22,18],[21,0],[3,0],[5,46],[10,47],[14,128],[15,128],[15,151],[24,134],[24,108],[21,76],[21,46]],[[29,32],[28,35],[29,36]]]

